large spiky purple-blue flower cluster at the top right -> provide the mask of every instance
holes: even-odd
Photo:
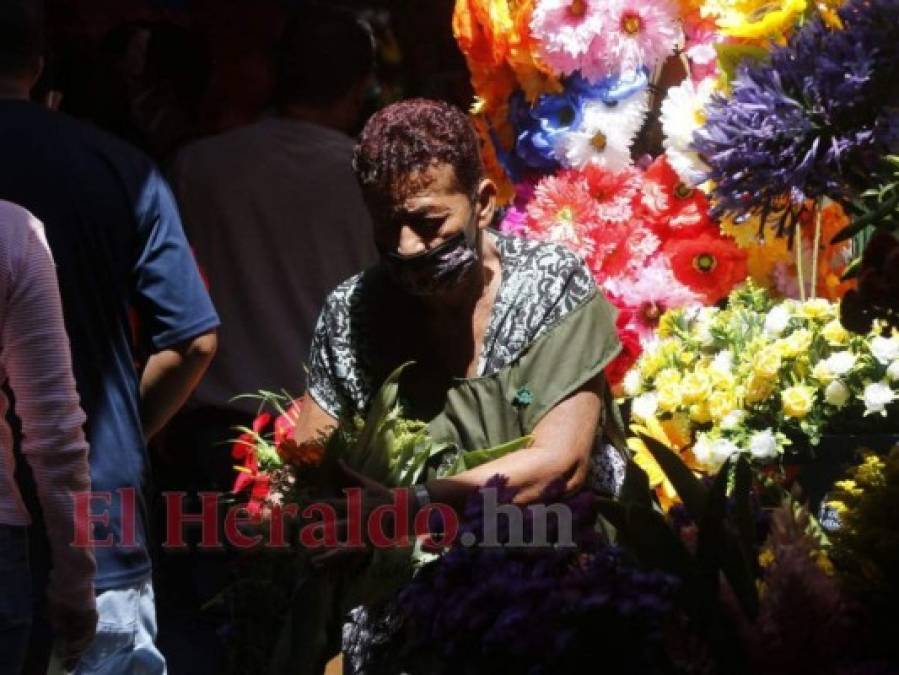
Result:
[[[777,214],[780,233],[806,200],[845,201],[899,146],[899,0],[850,0],[843,30],[820,18],[770,60],[744,63],[729,98],[713,97],[695,148],[716,211]]]

